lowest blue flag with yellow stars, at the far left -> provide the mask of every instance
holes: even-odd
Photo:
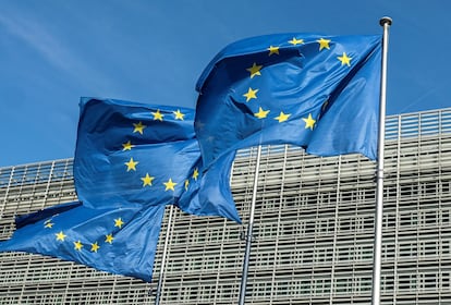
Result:
[[[49,255],[150,282],[164,205],[93,209],[80,203],[17,217],[0,252]]]

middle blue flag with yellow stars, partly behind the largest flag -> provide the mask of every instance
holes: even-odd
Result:
[[[74,180],[84,206],[174,204],[240,222],[233,200],[198,200],[198,187],[211,181],[202,164],[193,109],[82,98]]]

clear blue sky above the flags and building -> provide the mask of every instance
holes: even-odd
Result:
[[[451,2],[440,0],[2,0],[0,167],[73,157],[80,97],[195,107],[224,46],[298,32],[390,28],[387,113],[451,106]]]

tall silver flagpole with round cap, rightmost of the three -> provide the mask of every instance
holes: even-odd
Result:
[[[380,26],[383,27],[382,38],[382,66],[380,75],[380,109],[379,109],[379,141],[377,161],[377,187],[376,187],[376,215],[375,215],[375,246],[373,266],[373,295],[371,305],[380,304],[380,270],[382,257],[382,217],[383,217],[383,149],[386,137],[386,95],[387,95],[387,52],[389,40],[390,17],[381,17]]]

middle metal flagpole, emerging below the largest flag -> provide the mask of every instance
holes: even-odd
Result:
[[[245,239],[246,239],[246,249],[245,249],[245,253],[244,253],[244,260],[243,260],[243,273],[241,276],[239,305],[244,305],[244,300],[246,297],[247,273],[248,273],[249,260],[251,260],[251,246],[252,246],[252,239],[253,239],[253,231],[254,231],[255,205],[256,205],[256,202],[257,202],[257,186],[258,186],[258,172],[260,170],[260,157],[261,157],[261,145],[258,145],[257,161],[255,163],[254,188],[253,188],[253,193],[252,193],[249,220],[248,220],[248,223],[247,223],[247,233],[246,233],[246,236],[245,236]]]

